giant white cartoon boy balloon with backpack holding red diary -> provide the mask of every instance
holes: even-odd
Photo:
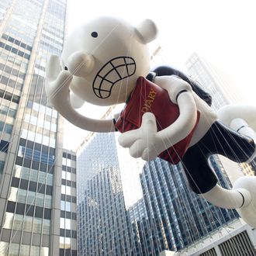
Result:
[[[119,130],[119,144],[129,147],[133,157],[181,161],[194,192],[216,206],[236,208],[256,227],[256,177],[239,178],[232,190],[223,189],[208,161],[213,154],[251,161],[256,136],[247,124],[255,125],[250,109],[227,106],[217,114],[210,96],[185,74],[171,67],[150,72],[147,43],[156,36],[150,19],[134,27],[99,17],[76,29],[67,37],[61,59],[51,56],[48,61],[50,102],[82,129]],[[90,119],[75,110],[84,102],[126,106],[115,119]]]

